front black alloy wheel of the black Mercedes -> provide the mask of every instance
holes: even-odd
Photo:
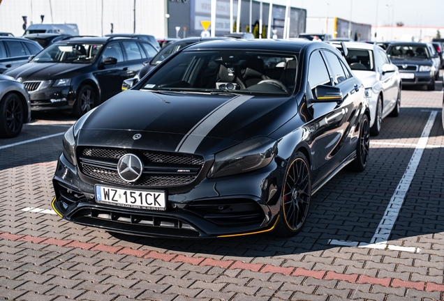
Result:
[[[275,233],[278,236],[295,236],[304,226],[309,214],[311,175],[308,160],[297,152],[288,167],[283,183],[281,213]]]

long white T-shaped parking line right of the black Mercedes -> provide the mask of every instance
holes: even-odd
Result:
[[[369,247],[373,249],[392,249],[416,253],[420,252],[420,249],[416,247],[387,245],[387,240],[392,232],[394,223],[397,220],[399,210],[401,210],[401,206],[404,203],[410,183],[412,183],[413,177],[415,176],[416,169],[420,164],[422,153],[424,153],[424,149],[427,148],[427,141],[429,140],[430,131],[434,125],[437,114],[438,111],[430,112],[429,120],[422,131],[418,143],[416,144],[415,151],[413,151],[410,162],[408,162],[407,169],[399,181],[397,189],[394,191],[392,199],[390,199],[390,203],[388,204],[387,209],[385,209],[383,218],[380,220],[378,228],[376,229],[373,238],[371,238],[370,243],[353,242],[348,240],[329,240],[328,243],[330,245],[341,245],[343,247]]]

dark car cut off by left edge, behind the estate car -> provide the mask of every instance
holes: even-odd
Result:
[[[25,38],[0,36],[0,73],[27,63],[29,56],[43,49],[37,42]]]

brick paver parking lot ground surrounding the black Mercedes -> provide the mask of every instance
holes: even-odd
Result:
[[[0,299],[443,300],[442,104],[442,91],[404,89],[400,116],[371,139],[367,169],[338,173],[288,239],[165,240],[65,222],[50,214],[51,178],[73,121],[25,125],[0,140]],[[430,111],[438,116],[385,248],[332,244],[370,242]]]

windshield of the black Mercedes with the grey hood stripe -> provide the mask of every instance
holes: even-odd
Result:
[[[288,94],[297,56],[244,50],[188,50],[152,72],[142,90]]]

